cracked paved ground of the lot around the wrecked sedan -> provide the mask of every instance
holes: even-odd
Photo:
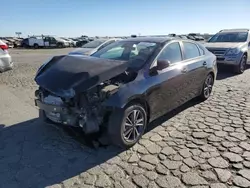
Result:
[[[38,67],[70,50],[10,51],[14,70],[0,74],[1,188],[250,187],[250,70],[220,72],[208,101],[156,120],[130,150],[94,149],[39,121],[33,104]]]

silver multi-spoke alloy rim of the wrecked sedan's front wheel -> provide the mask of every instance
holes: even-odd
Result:
[[[136,141],[143,133],[145,123],[143,113],[139,109],[132,110],[128,113],[123,129],[124,140],[126,142]]]

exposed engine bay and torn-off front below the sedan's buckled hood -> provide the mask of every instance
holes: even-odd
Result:
[[[98,132],[100,125],[110,111],[102,105],[106,99],[117,92],[119,87],[134,80],[136,72],[124,72],[104,81],[73,98],[63,98],[40,87],[35,95],[36,105],[43,117],[52,123],[81,127],[85,133]]]

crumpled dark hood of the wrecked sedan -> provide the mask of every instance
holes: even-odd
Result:
[[[51,93],[72,98],[124,71],[128,63],[90,56],[55,56],[37,72],[36,83]]]

